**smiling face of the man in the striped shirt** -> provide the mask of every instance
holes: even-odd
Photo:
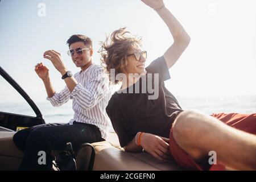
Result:
[[[84,49],[82,54],[79,55],[75,51],[77,48],[90,49]],[[69,50],[74,50],[74,54],[72,56],[73,63],[75,63],[76,67],[80,67],[82,71],[92,64],[93,48],[91,46],[85,45],[84,42],[75,42],[70,45]]]

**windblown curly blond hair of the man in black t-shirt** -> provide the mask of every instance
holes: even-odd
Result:
[[[110,36],[107,36],[105,42],[101,42],[101,63],[107,73],[110,69],[115,69],[115,75],[123,73],[127,67],[127,54],[131,49],[141,47],[142,38],[131,34],[125,28],[115,30]],[[117,84],[120,80],[115,80],[109,74],[109,80]]]

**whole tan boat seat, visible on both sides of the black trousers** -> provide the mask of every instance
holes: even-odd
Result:
[[[18,169],[23,157],[13,142],[15,132],[0,131],[0,170]],[[125,152],[120,147],[117,134],[110,132],[109,138],[103,142],[92,143],[96,156],[93,170],[108,171],[173,171],[181,168],[173,161],[160,161],[147,152]]]

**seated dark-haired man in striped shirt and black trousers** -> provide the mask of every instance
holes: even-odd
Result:
[[[49,50],[43,57],[50,60],[61,78],[65,88],[56,93],[49,78],[48,68],[40,63],[35,72],[46,87],[47,100],[53,106],[61,106],[73,101],[74,117],[69,123],[54,123],[30,127],[14,135],[14,143],[24,152],[20,170],[50,170],[52,150],[64,150],[71,142],[77,150],[82,143],[98,142],[107,138],[110,121],[106,106],[111,97],[109,78],[100,65],[92,63],[92,40],[84,35],[72,35],[68,39],[68,55],[76,67],[81,68],[74,76],[68,71],[60,53]],[[38,163],[39,151],[46,152],[46,164]]]

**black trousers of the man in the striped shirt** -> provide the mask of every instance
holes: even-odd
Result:
[[[19,170],[51,170],[52,150],[65,150],[68,142],[77,150],[82,143],[99,142],[100,130],[97,126],[73,122],[73,125],[64,123],[49,123],[18,131],[13,137],[15,145],[24,152]],[[39,164],[42,152],[46,154],[46,164]]]

